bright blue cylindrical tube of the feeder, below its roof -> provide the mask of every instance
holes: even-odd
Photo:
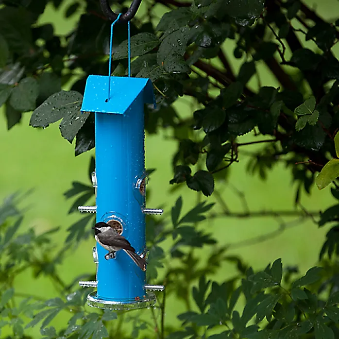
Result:
[[[144,139],[142,95],[124,114],[95,113],[97,222],[107,222],[112,215],[120,218],[122,235],[137,254],[145,250],[144,197],[136,189],[145,168]],[[108,251],[98,243],[97,249],[98,297],[121,302],[141,299],[145,272],[122,250],[106,260]]]

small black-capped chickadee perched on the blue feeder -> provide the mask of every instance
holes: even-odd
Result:
[[[136,250],[130,242],[116,232],[113,227],[101,221],[97,222],[92,229],[95,231],[95,239],[105,250],[109,251],[109,253],[105,255],[105,259],[109,258],[109,254],[124,250],[142,271],[146,271],[146,260],[136,254]]]

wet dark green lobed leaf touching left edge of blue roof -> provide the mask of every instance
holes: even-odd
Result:
[[[33,127],[48,127],[62,118],[59,129],[61,135],[72,142],[89,116],[88,112],[80,111],[83,96],[76,91],[61,91],[51,95],[37,107],[31,117]]]

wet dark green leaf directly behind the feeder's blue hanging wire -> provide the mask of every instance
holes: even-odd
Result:
[[[131,57],[134,58],[152,51],[160,43],[159,39],[152,33],[143,32],[131,37]],[[113,60],[125,59],[128,57],[128,40],[121,44],[114,51]]]

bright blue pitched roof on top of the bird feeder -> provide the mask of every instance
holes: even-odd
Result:
[[[153,85],[150,79],[111,76],[111,94],[108,98],[108,75],[89,75],[81,110],[124,114],[141,94],[144,103],[155,106]]]

